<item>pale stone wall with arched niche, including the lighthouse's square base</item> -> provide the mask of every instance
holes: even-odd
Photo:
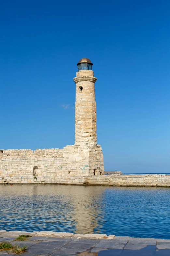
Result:
[[[70,145],[63,149],[4,150],[0,154],[2,183],[85,182],[87,176],[104,174],[100,145]],[[64,178],[63,178],[64,177]],[[80,181],[77,177],[81,177]],[[75,181],[75,179],[77,181]],[[83,180],[82,180],[83,179]]]

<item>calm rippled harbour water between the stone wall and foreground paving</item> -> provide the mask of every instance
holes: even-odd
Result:
[[[1,229],[170,239],[170,188],[1,185]]]

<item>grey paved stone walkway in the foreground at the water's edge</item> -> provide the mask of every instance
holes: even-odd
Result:
[[[26,233],[26,232],[25,232]],[[26,233],[32,235],[25,241],[15,241],[24,232],[0,232],[0,242],[8,241],[20,247],[26,245],[27,250],[21,256],[164,256],[170,255],[170,240],[153,238],[132,238],[113,236],[112,239],[75,238],[38,236],[37,232]],[[69,233],[65,233],[69,234]],[[92,237],[93,234],[89,234]],[[81,235],[80,235],[81,236]],[[97,235],[96,235],[97,236]],[[14,255],[9,251],[0,251],[0,256]]]

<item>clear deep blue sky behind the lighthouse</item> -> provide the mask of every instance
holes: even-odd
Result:
[[[170,172],[170,1],[0,1],[0,148],[74,144],[90,58],[105,170]]]

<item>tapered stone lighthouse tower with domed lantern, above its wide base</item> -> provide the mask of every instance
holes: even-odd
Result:
[[[89,69],[88,69],[89,68]],[[75,103],[75,144],[95,145],[96,134],[96,102],[94,83],[97,80],[92,71],[92,63],[83,58],[78,62]]]

